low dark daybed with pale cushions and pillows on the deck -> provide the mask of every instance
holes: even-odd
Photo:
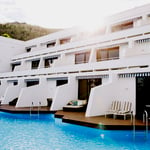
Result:
[[[87,100],[71,100],[63,107],[64,111],[85,111]]]

